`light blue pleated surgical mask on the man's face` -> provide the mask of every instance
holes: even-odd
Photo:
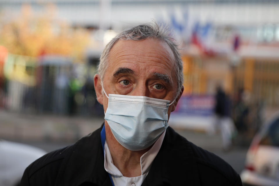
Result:
[[[174,101],[170,103],[145,96],[105,95],[108,98],[105,120],[115,139],[126,149],[139,151],[148,148],[169,126],[168,108]]]

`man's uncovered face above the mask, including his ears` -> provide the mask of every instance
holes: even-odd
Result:
[[[110,50],[103,88],[107,95],[147,96],[172,102],[177,92],[174,63],[173,52],[161,40],[119,40]],[[98,75],[94,81],[97,99],[106,111],[108,98],[100,92]],[[170,105],[168,115],[175,107]]]

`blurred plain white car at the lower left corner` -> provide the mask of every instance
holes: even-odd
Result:
[[[44,154],[33,146],[0,139],[0,185],[19,185],[26,167]]]

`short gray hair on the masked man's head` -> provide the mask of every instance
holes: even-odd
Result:
[[[177,80],[177,94],[179,95],[181,87],[183,85],[183,63],[181,60],[180,52],[178,51],[178,45],[175,43],[174,38],[171,35],[170,29],[162,24],[140,24],[131,28],[127,28],[123,32],[119,33],[114,37],[103,50],[100,57],[100,63],[98,65],[98,74],[100,75],[101,81],[105,75],[106,68],[108,67],[108,55],[113,45],[118,40],[134,40],[140,41],[147,38],[160,39],[166,42],[174,53],[175,60],[175,76]]]

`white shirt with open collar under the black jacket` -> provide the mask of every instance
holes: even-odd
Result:
[[[107,142],[105,142],[104,166],[105,166],[105,170],[109,174],[111,174],[111,178],[112,178],[112,181],[115,186],[140,186],[140,185],[142,185],[142,182],[145,179],[145,177],[147,176],[154,158],[156,157],[156,155],[158,154],[158,152],[162,146],[162,143],[163,143],[163,140],[165,137],[165,133],[166,133],[166,131],[164,131],[162,133],[162,135],[158,138],[158,140],[153,144],[151,149],[149,149],[149,151],[147,151],[140,157],[140,168],[141,168],[142,174],[140,176],[131,177],[131,178],[123,176],[123,174],[119,171],[119,169],[117,169],[117,167],[115,167],[115,165],[113,164],[113,161],[112,161],[111,154],[110,154],[110,149],[108,148]]]

